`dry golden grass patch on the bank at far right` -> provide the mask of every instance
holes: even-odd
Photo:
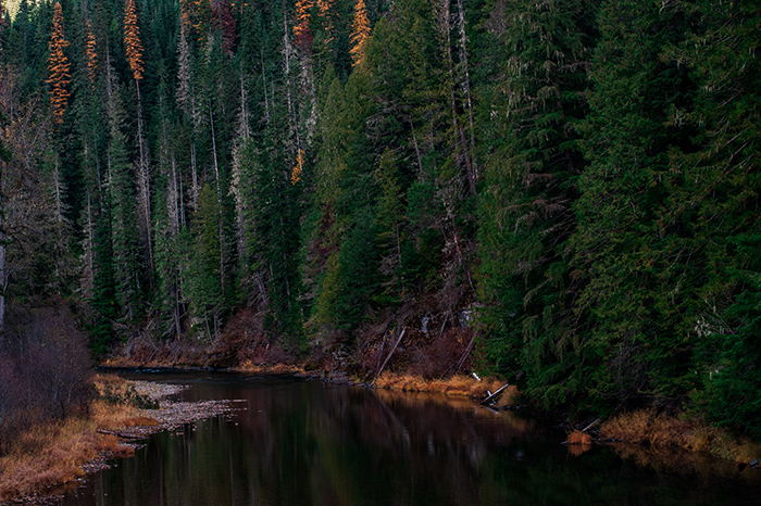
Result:
[[[761,445],[747,438],[735,438],[700,420],[676,418],[652,409],[619,415],[603,422],[600,433],[627,443],[648,443],[658,448],[681,447],[738,463],[761,455]]]

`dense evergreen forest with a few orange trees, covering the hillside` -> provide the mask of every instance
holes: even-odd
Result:
[[[1,315],[308,353],[435,300],[545,407],[761,438],[757,2],[13,8]]]

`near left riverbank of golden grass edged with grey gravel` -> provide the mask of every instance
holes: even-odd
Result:
[[[84,414],[25,431],[0,457],[0,503],[51,504],[86,475],[128,457],[140,439],[235,409],[230,402],[178,402],[184,387],[99,375]]]

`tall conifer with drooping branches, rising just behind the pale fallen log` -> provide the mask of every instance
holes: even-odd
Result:
[[[548,405],[566,401],[584,374],[573,341],[581,287],[567,251],[585,166],[578,127],[588,111],[596,10],[594,1],[517,0],[495,9],[487,25],[494,80],[482,136],[482,320],[494,362],[525,371]]]

